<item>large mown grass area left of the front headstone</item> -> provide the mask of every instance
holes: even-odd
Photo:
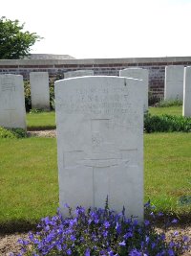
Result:
[[[55,139],[1,139],[0,152],[1,229],[53,215],[58,206]]]

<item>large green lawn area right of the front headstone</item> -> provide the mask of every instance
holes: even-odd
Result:
[[[145,198],[162,211],[191,210],[179,199],[191,197],[191,133],[144,134]]]

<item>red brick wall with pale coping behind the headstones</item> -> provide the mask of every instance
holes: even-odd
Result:
[[[165,66],[172,64],[188,66],[191,65],[191,58],[0,60],[0,74],[23,75],[24,80],[29,80],[30,72],[48,71],[50,78],[62,79],[65,72],[79,69],[94,70],[95,75],[118,76],[121,69],[140,67],[149,70],[149,90],[163,97]]]

